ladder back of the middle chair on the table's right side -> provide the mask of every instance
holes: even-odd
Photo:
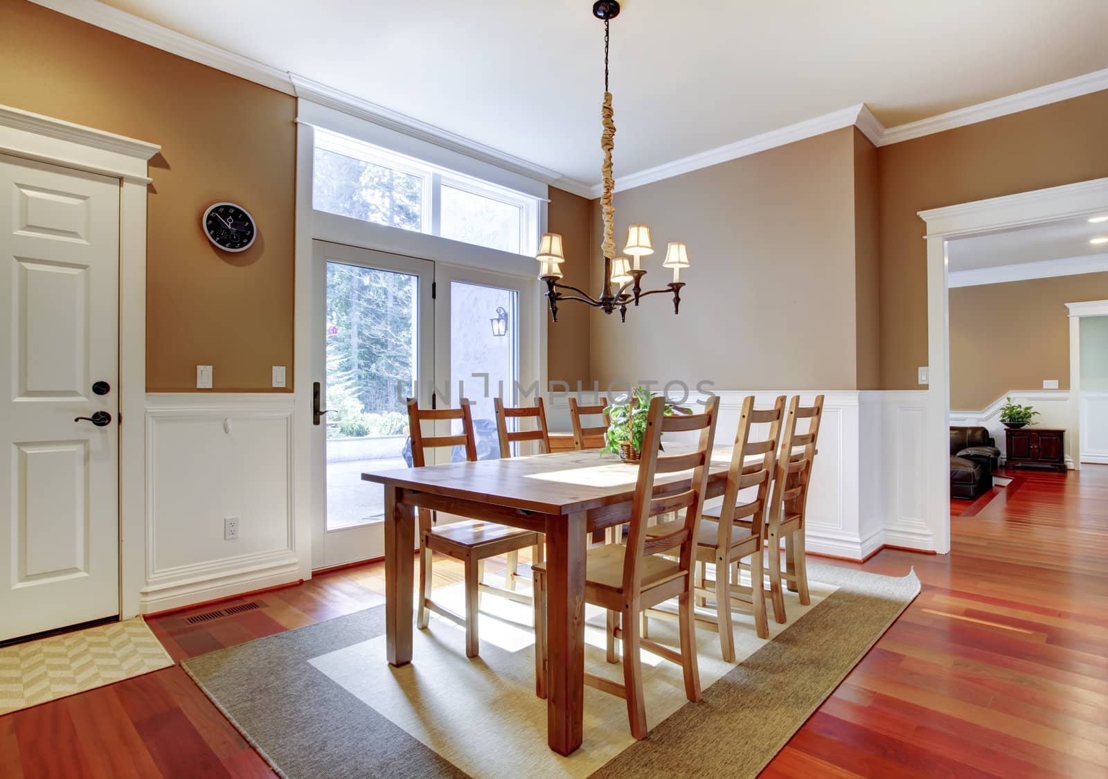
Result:
[[[777,444],[781,434],[781,423],[784,417],[784,396],[778,396],[772,409],[755,409],[755,396],[742,400],[742,411],[739,414],[739,427],[735,431],[735,449],[731,450],[731,467],[727,472],[727,488],[724,490],[724,504],[719,512],[718,535],[716,544],[722,549],[731,543],[731,526],[735,520],[751,517],[752,535],[765,532],[767,509],[770,505],[770,486],[773,481],[773,470],[777,461]],[[753,424],[769,424],[765,439],[751,440]],[[749,458],[761,454],[761,462],[751,462]],[[757,488],[755,499],[739,503],[739,493]]]

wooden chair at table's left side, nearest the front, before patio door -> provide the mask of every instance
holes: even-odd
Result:
[[[450,435],[424,435],[423,421],[461,420],[462,432]],[[420,409],[414,398],[408,399],[408,426],[412,438],[412,465],[427,465],[427,450],[438,447],[464,447],[465,459],[476,462],[476,438],[473,433],[473,417],[470,403],[462,398],[458,409]],[[489,557],[502,554],[517,553],[529,546],[541,543],[542,535],[532,531],[519,530],[494,522],[482,520],[465,520],[447,525],[437,525],[435,517],[428,509],[419,510],[419,613],[417,624],[425,629],[430,624],[430,612],[434,612],[460,625],[465,626],[465,654],[476,657],[478,642],[478,598],[481,592],[492,592],[496,595],[531,603],[531,597],[511,590],[500,590],[482,582],[484,565]],[[434,553],[461,561],[465,566],[465,615],[461,616],[445,606],[431,599],[432,571],[431,561]],[[514,582],[513,582],[514,583]]]

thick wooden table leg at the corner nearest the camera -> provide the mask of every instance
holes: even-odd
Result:
[[[585,512],[546,517],[546,742],[570,755],[585,705]]]

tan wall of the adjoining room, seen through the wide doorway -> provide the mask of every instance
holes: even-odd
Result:
[[[951,408],[981,411],[1044,379],[1069,389],[1066,304],[1106,298],[1108,273],[951,289]]]

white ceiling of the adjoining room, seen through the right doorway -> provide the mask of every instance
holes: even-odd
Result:
[[[1108,222],[1090,224],[1081,217],[958,238],[946,245],[947,269],[956,273],[1070,257],[1108,257],[1108,244],[1089,243],[1100,236],[1108,237]]]

